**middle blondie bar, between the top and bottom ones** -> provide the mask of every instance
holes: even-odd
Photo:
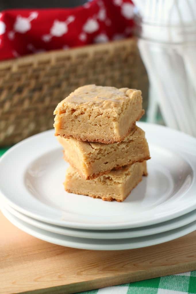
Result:
[[[64,159],[86,180],[108,173],[113,168],[150,159],[145,132],[137,126],[120,143],[82,142],[60,136],[57,139],[64,148]]]

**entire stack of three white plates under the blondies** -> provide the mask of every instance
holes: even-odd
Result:
[[[54,131],[32,136],[0,160],[1,210],[42,240],[74,248],[122,250],[163,243],[196,229],[196,139],[163,126],[146,131],[148,176],[122,202],[70,194],[68,166]]]

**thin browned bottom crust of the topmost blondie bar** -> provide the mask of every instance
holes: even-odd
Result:
[[[144,109],[142,109],[142,112],[140,113],[140,115],[138,116],[137,118],[137,121],[140,120],[140,118],[144,115],[145,111]],[[103,140],[103,139],[100,139],[100,138],[91,138],[90,141],[91,142],[99,142],[99,143],[104,143],[104,144],[111,144],[111,143],[115,143],[115,142],[122,142],[128,135],[129,135],[129,132],[134,128],[135,126],[135,122],[131,125],[131,127],[129,128],[129,131],[127,132],[127,134],[123,137],[121,137],[120,139],[119,138],[114,138],[113,140],[112,139],[108,139],[108,140]],[[61,136],[63,138],[67,138],[69,139],[70,137],[73,137],[79,141],[89,141],[89,138],[81,138],[79,136],[74,136],[73,134],[70,135],[70,136],[66,136],[66,135],[60,135],[60,134],[57,134],[55,133],[55,136]]]

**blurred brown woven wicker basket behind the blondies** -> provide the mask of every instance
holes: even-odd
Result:
[[[53,127],[57,103],[79,86],[95,83],[141,89],[148,78],[137,41],[126,39],[0,62],[0,146]]]

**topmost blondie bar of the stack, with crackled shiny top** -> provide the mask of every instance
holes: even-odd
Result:
[[[54,114],[56,136],[106,144],[121,142],[144,114],[142,93],[86,85],[62,100]]]

